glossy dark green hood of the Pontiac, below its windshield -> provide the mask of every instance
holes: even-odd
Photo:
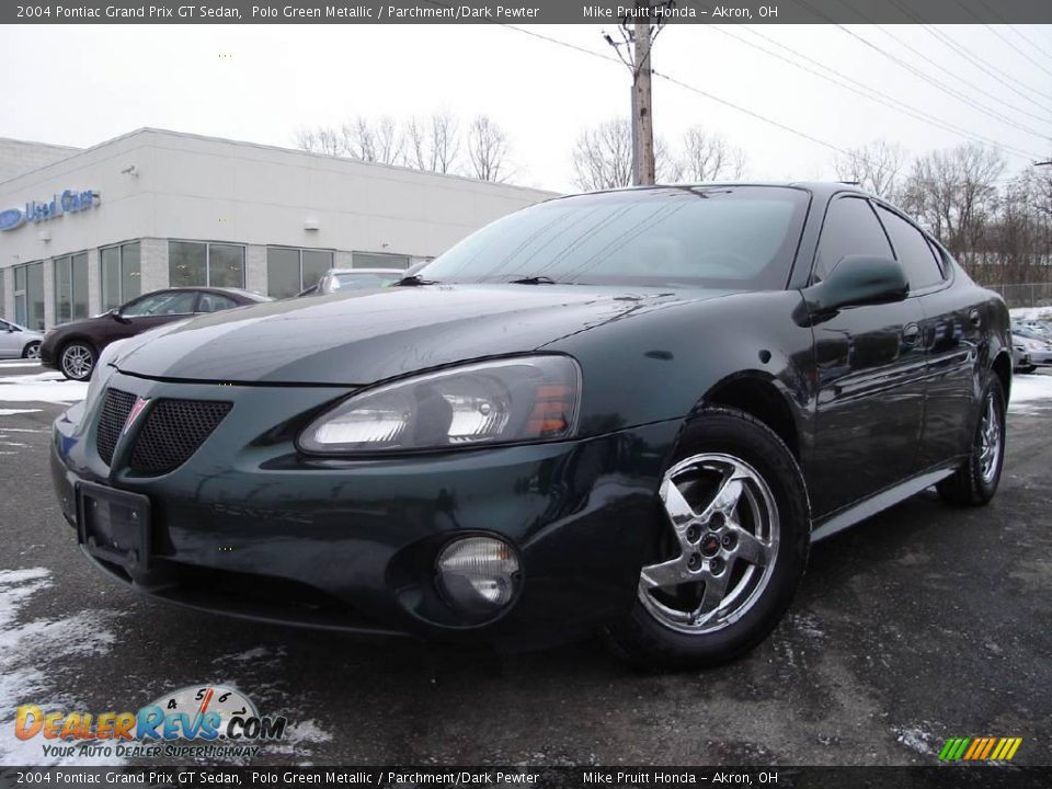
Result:
[[[140,334],[116,366],[149,378],[362,386],[730,291],[432,285],[275,301]]]

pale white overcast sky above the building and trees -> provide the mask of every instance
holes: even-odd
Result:
[[[598,25],[531,30],[611,54]],[[832,25],[673,24],[655,43],[658,71],[753,113],[842,148],[883,137],[921,152],[965,138],[728,35],[775,48],[748,30],[941,123],[1024,151],[1007,155],[1013,171],[1031,156],[1052,157],[1052,26],[937,28],[992,73],[919,26],[850,28],[985,110]],[[629,102],[624,66],[496,25],[5,26],[0,68],[10,77],[0,137],[87,147],[153,126],[291,147],[301,126],[445,108],[492,116],[511,138],[512,181],[560,191],[572,187],[580,132],[627,114]],[[835,175],[828,148],[660,79],[654,119],[673,147],[694,124],[721,133],[746,152],[751,178]]]

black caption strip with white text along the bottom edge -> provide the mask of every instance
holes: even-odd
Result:
[[[0,789],[56,786],[195,787],[523,787],[524,789],[1047,789],[1052,767],[970,765],[930,767],[8,767]]]

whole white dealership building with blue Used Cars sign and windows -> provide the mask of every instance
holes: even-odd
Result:
[[[181,285],[295,296],[552,196],[157,129],[84,150],[0,139],[0,317],[50,328]]]

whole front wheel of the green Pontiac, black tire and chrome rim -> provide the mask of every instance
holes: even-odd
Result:
[[[765,424],[706,409],[662,480],[654,551],[616,651],[649,670],[730,661],[763,641],[803,576],[811,517],[800,467]]]

